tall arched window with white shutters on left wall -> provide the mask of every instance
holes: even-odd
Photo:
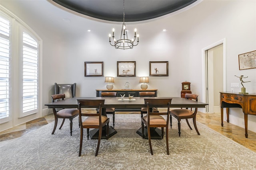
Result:
[[[1,129],[42,116],[41,44],[40,37],[26,23],[0,6]]]

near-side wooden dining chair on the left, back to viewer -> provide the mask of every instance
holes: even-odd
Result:
[[[100,139],[102,135],[102,127],[106,125],[106,139],[108,139],[108,127],[109,127],[109,118],[102,115],[102,106],[104,105],[105,100],[82,100],[77,99],[78,110],[79,110],[79,123],[80,123],[80,147],[79,147],[79,156],[82,153],[82,144],[83,144],[83,130],[87,129],[87,140],[89,139],[89,129],[99,129],[98,136],[98,145],[96,149],[95,156],[98,155],[100,148]],[[97,113],[82,113],[81,108],[98,108]],[[82,117],[86,117],[84,121]]]

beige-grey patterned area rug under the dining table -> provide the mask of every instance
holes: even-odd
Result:
[[[109,116],[110,119],[112,116]],[[58,127],[61,121],[59,121]],[[80,129],[74,119],[70,136],[69,120],[51,135],[54,122],[23,137],[0,143],[1,170],[224,170],[256,169],[256,153],[197,122],[198,130],[181,123],[178,136],[177,121],[169,131],[170,155],[166,154],[165,137],[152,140],[154,155],[147,139],[136,131],[141,127],[140,114],[116,114],[118,133],[102,140],[98,156],[98,140],[87,140],[84,134],[82,156],[78,157]],[[112,120],[110,120],[112,125]],[[57,128],[58,128],[57,127]],[[86,131],[85,131],[86,132]]]

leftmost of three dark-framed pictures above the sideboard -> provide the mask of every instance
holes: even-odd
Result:
[[[84,62],[84,76],[103,76],[103,62]]]

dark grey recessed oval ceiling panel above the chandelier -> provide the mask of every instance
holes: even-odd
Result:
[[[122,0],[53,0],[80,14],[108,21],[123,21]],[[180,10],[197,0],[125,0],[125,21],[143,21]]]

